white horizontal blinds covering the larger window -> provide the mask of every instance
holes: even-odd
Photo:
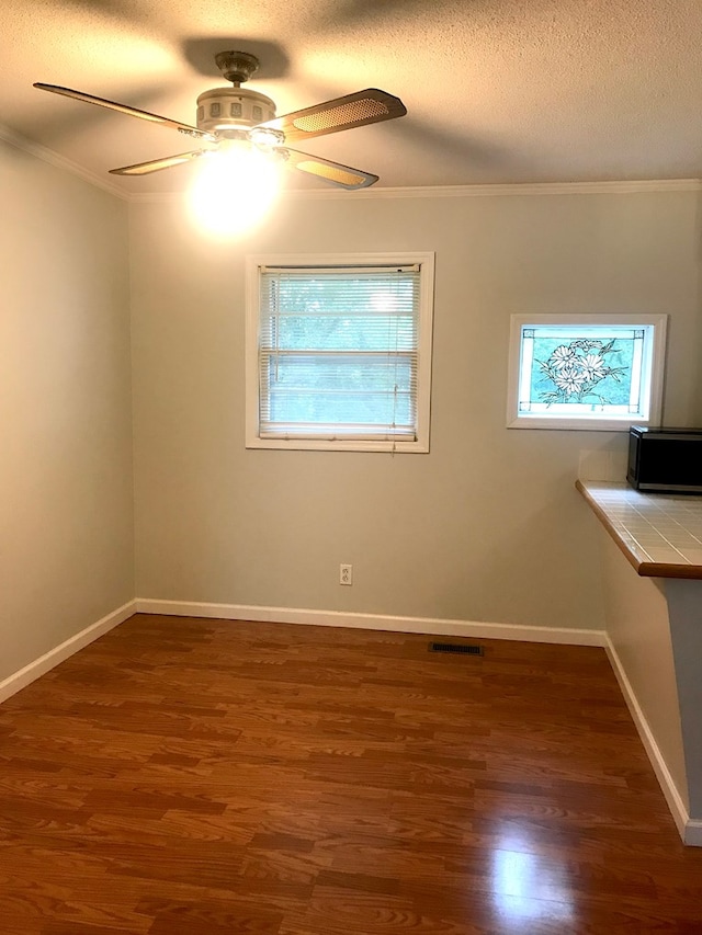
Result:
[[[259,273],[260,437],[415,441],[420,266]]]

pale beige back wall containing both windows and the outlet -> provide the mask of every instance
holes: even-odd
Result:
[[[509,317],[670,313],[666,421],[694,423],[697,217],[684,191],[290,198],[236,246],[133,204],[137,595],[603,628],[574,480],[625,438],[505,427]],[[246,451],[246,254],[374,250],[437,254],[431,453]]]

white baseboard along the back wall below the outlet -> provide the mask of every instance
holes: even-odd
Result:
[[[433,617],[396,617],[383,614],[353,614],[344,611],[305,611],[293,607],[264,607],[248,604],[204,604],[192,601],[136,598],[143,614],[171,614],[177,617],[208,617],[224,620],[305,624],[318,627],[351,627],[406,634],[440,634],[474,639],[511,639],[525,642],[553,642],[566,646],[605,646],[604,630],[530,627],[520,624],[486,624],[472,620],[444,620]]]

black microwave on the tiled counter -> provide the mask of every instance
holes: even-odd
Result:
[[[642,491],[702,493],[702,429],[632,425],[626,480]]]

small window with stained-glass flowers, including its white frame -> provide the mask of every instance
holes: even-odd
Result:
[[[512,316],[508,426],[627,430],[659,422],[666,321]]]

